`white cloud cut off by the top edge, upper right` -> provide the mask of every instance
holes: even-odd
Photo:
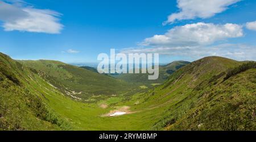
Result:
[[[168,16],[168,20],[163,24],[173,23],[176,20],[210,18],[239,1],[241,0],[177,0],[180,12]]]

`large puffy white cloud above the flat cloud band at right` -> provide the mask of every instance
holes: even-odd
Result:
[[[238,24],[195,23],[174,27],[164,35],[155,35],[145,39],[139,45],[192,47],[241,36],[243,36],[243,30]]]

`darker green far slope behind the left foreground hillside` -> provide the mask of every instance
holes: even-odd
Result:
[[[54,87],[76,100],[94,101],[139,89],[113,77],[59,61],[19,61],[48,80]],[[93,97],[93,99],[92,99]]]

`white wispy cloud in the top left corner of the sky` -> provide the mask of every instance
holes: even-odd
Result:
[[[3,22],[2,27],[5,31],[59,34],[63,29],[63,24],[59,22],[60,13],[52,10],[35,9],[20,2],[0,0],[0,20]]]

